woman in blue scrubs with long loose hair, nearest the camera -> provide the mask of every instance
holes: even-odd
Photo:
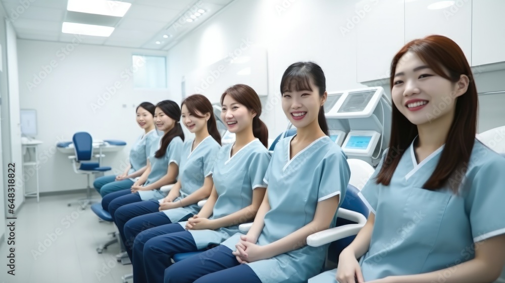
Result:
[[[413,40],[390,82],[389,150],[360,195],[370,216],[337,271],[310,282],[493,282],[505,263],[505,159],[475,138],[463,51],[440,35]]]

